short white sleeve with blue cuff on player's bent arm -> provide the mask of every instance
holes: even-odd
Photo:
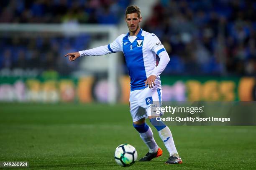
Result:
[[[161,52],[166,51],[164,48],[164,45],[162,45],[161,41],[159,40],[156,35],[151,34],[149,35],[149,42],[148,47],[151,51],[155,52],[157,55],[159,55]]]

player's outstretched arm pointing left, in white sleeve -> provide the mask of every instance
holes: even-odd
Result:
[[[72,52],[65,55],[65,57],[69,56],[70,61],[76,60],[80,56],[98,56],[98,55],[106,55],[113,52],[122,51],[122,35],[117,37],[115,41],[110,43],[109,45],[103,45],[100,47],[92,48],[90,50],[83,50],[78,52]]]

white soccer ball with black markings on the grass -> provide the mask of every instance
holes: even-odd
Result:
[[[120,166],[131,166],[137,158],[137,151],[132,145],[121,144],[115,149],[115,162]]]

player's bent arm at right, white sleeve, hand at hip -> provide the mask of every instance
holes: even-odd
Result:
[[[151,43],[149,44],[149,47],[160,58],[159,64],[157,65],[157,67],[153,70],[151,75],[145,81],[145,86],[148,85],[149,88],[152,88],[153,85],[155,85],[156,77],[158,77],[164,71],[166,65],[170,61],[170,58],[164,48],[164,45],[161,44],[158,37],[156,37],[156,35],[154,35],[154,34],[151,35]]]

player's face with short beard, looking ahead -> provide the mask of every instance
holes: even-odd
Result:
[[[127,26],[129,28],[130,32],[136,32],[138,30],[138,28],[140,28],[140,22],[142,20],[142,18],[138,18],[138,14],[137,13],[131,13],[131,14],[127,14],[125,17]]]

